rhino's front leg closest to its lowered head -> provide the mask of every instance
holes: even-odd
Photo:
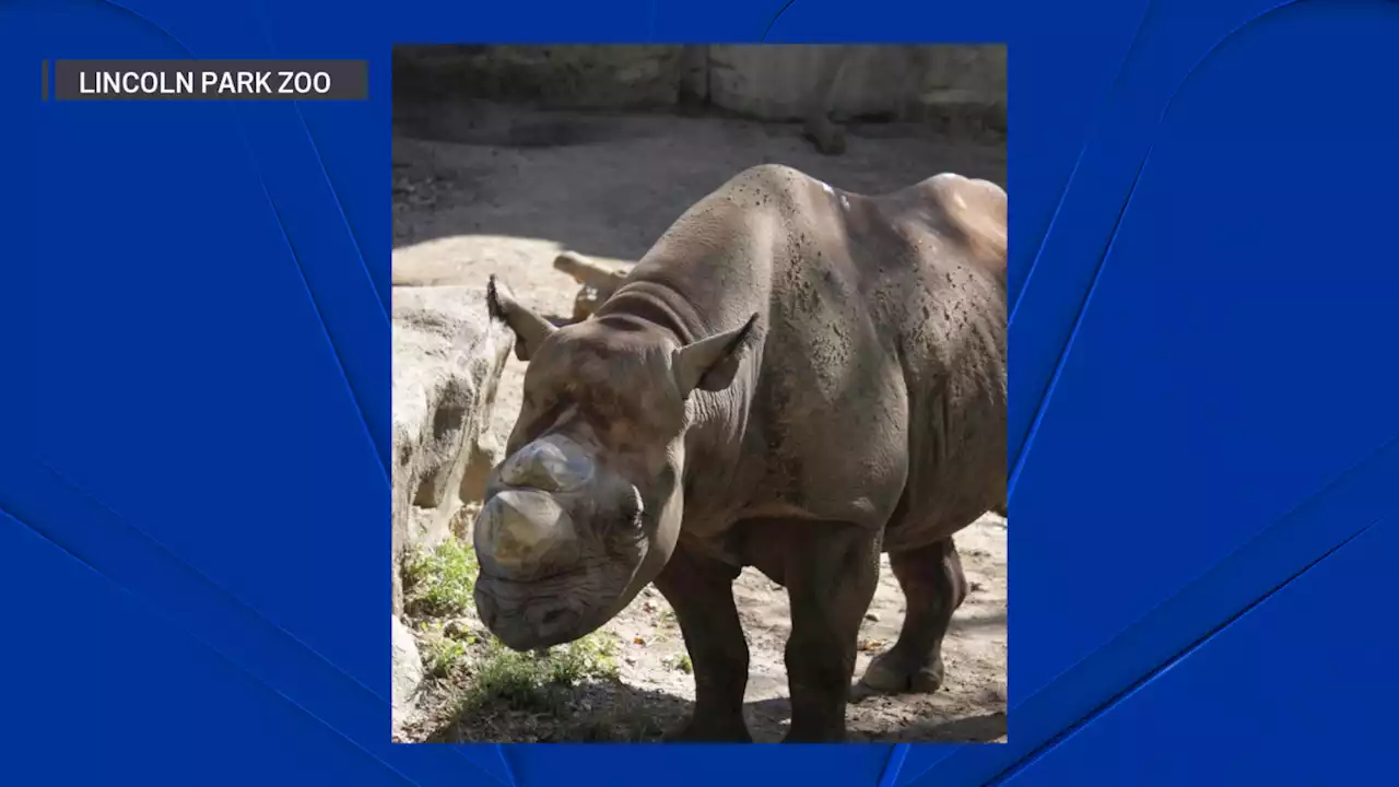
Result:
[[[694,714],[667,741],[753,742],[743,721],[748,641],[733,604],[737,576],[739,569],[681,546],[656,578],[656,588],[676,611],[695,675]]]

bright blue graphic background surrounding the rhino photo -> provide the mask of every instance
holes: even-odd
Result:
[[[389,744],[395,42],[1009,42],[1010,744]],[[1392,781],[1399,4],[4,0],[0,781]],[[367,57],[348,104],[41,102]]]

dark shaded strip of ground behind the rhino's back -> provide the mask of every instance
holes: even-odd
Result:
[[[393,244],[541,238],[635,262],[691,204],[758,164],[795,167],[865,195],[944,171],[1006,182],[1004,139],[995,133],[956,139],[872,123],[851,129],[844,155],[827,157],[795,123],[404,105],[395,106]]]

